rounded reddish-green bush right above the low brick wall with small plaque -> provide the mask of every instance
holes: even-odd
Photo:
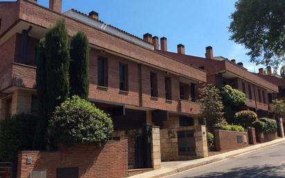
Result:
[[[237,124],[243,127],[251,127],[252,123],[257,121],[257,114],[250,110],[245,110],[241,112],[237,112],[235,114],[235,121]]]

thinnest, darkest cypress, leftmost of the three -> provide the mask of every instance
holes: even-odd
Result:
[[[37,99],[39,100],[39,120],[37,122],[36,134],[33,141],[35,150],[45,148],[46,127],[48,126],[48,92],[46,88],[46,53],[45,39],[39,41],[37,46]]]

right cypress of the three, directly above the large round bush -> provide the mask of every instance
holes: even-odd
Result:
[[[89,94],[89,41],[79,31],[71,39],[71,66],[69,69],[71,96],[87,99]]]

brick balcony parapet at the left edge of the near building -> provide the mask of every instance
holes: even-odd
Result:
[[[0,71],[0,91],[6,91],[11,87],[35,89],[36,68],[13,62]]]

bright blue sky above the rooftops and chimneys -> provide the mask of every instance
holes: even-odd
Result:
[[[48,0],[38,3],[48,6]],[[95,10],[105,23],[139,37],[165,36],[169,51],[176,52],[176,45],[184,44],[187,54],[204,57],[205,46],[212,46],[215,56],[243,62],[249,71],[257,72],[260,66],[248,62],[246,49],[229,39],[234,5],[235,0],[63,0],[63,11]]]

